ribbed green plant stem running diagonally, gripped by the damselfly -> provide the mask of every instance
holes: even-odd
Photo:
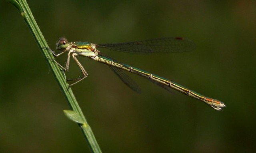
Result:
[[[76,101],[76,98],[74,97],[74,94],[69,87],[68,83],[66,83],[66,80],[64,78],[63,72],[60,71],[60,68],[58,65],[51,59],[54,59],[52,56],[52,53],[49,50],[49,46],[44,39],[38,25],[36,24],[36,20],[34,19],[32,12],[26,2],[26,0],[8,0],[10,3],[12,3],[18,10],[21,12],[22,17],[24,18],[25,22],[28,25],[28,28],[32,32],[36,42],[38,43],[39,48],[41,49],[45,60],[47,61],[47,64],[50,67],[50,70],[52,70],[52,73],[54,74],[54,77],[56,78],[56,81],[58,82],[60,89],[62,93],[64,94],[66,100],[68,101],[68,104],[72,108],[72,110],[75,112],[74,114],[79,115],[78,125],[82,129],[82,132],[89,144],[89,147],[93,153],[101,153],[100,147],[92,133],[92,129],[86,122],[86,119],[82,113],[82,110],[80,109],[78,102]]]

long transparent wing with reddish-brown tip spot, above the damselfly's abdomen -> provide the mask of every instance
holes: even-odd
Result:
[[[167,37],[137,42],[98,44],[96,47],[130,53],[175,53],[191,51],[196,45],[186,38]]]

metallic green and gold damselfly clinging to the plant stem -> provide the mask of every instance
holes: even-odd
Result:
[[[126,64],[122,64],[104,56],[101,52],[98,51],[98,48],[108,48],[110,50],[116,50],[120,52],[130,52],[130,53],[174,53],[174,52],[187,52],[193,50],[195,45],[193,42],[186,38],[180,37],[168,37],[168,38],[160,38],[160,39],[152,39],[152,40],[143,40],[137,42],[126,42],[126,43],[114,43],[114,44],[93,44],[90,42],[68,42],[66,38],[60,38],[56,43],[56,49],[60,51],[59,54],[55,54],[54,56],[59,56],[64,52],[68,52],[68,58],[66,61],[65,68],[61,66],[64,71],[68,71],[70,56],[74,59],[74,61],[78,64],[80,70],[82,71],[82,77],[78,77],[76,79],[67,79],[67,81],[74,81],[74,83],[70,85],[74,85],[75,83],[81,81],[86,76],[88,76],[86,70],[83,68],[82,64],[77,60],[76,56],[85,56],[90,59],[96,60],[98,62],[107,64],[110,68],[117,74],[122,81],[128,85],[131,89],[136,92],[140,92],[140,88],[138,85],[124,72],[121,70],[125,70],[128,72],[132,72],[134,74],[138,74],[139,76],[146,77],[150,81],[164,87],[164,89],[169,90],[170,88],[180,91],[185,95],[188,95],[192,98],[198,99],[200,101],[204,101],[210,107],[221,110],[222,107],[226,107],[225,104],[217,99],[212,99],[196,93],[182,85],[174,83],[168,79],[165,79],[160,76],[156,76],[149,72],[140,70],[138,68],[134,68],[132,66],[128,66]]]

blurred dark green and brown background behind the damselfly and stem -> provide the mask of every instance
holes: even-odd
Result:
[[[79,58],[89,76],[72,86],[105,153],[255,152],[256,1],[28,0],[52,49],[58,37],[96,44],[182,36],[180,54],[104,54],[226,104],[216,111],[104,64]],[[36,41],[12,4],[0,2],[0,152],[90,152]],[[58,58],[64,64],[66,56]],[[67,77],[80,72],[71,62]]]

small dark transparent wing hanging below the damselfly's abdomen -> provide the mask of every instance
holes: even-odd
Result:
[[[128,86],[130,87],[133,91],[136,91],[138,93],[141,93],[140,87],[137,85],[137,83],[130,78],[129,76],[127,76],[124,72],[122,72],[122,70],[110,66],[110,68],[115,72],[115,74]]]

